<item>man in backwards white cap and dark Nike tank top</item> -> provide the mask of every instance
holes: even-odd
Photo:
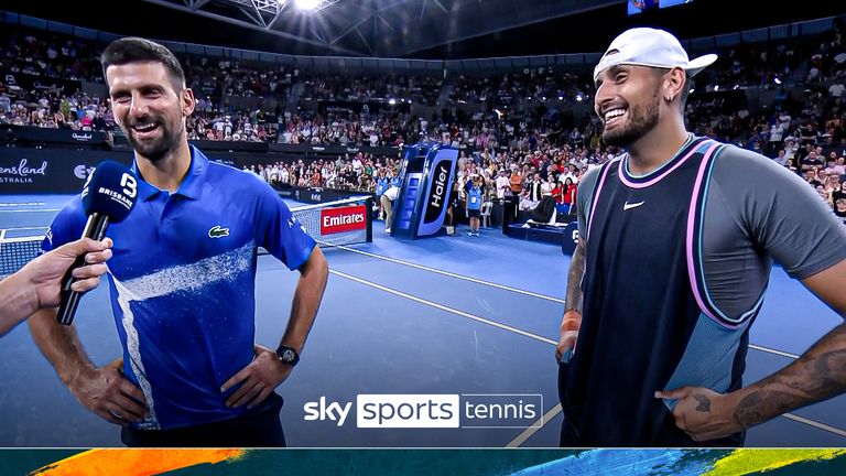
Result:
[[[773,161],[686,132],[690,78],[715,60],[632,29],[596,66],[603,140],[627,154],[578,184],[556,349],[563,446],[740,445],[746,429],[846,391],[846,324],[741,383],[773,260],[846,316],[846,227]]]

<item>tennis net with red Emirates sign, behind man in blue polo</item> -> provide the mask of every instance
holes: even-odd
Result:
[[[369,196],[294,207],[291,213],[321,246],[354,245],[373,239],[372,198]],[[0,277],[18,271],[37,257],[43,240],[43,235],[0,238]]]

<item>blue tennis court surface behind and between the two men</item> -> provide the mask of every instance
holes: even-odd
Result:
[[[0,228],[43,228],[69,196],[6,195]],[[300,206],[295,203],[292,207]],[[30,228],[33,229],[21,229]],[[12,237],[12,235],[8,235]],[[561,424],[555,342],[568,257],[557,246],[516,240],[499,229],[481,238],[394,239],[325,249],[330,277],[301,364],[278,390],[295,447],[556,446]],[[257,336],[275,347],[296,273],[259,258]],[[773,270],[752,327],[746,382],[790,364],[840,317],[801,283]],[[91,360],[120,355],[108,290],[83,299],[75,323]],[[364,429],[307,421],[310,402],[355,402],[358,394],[542,396],[524,428]],[[777,418],[749,432],[749,446],[846,446],[846,397]],[[37,351],[26,325],[0,343],[0,446],[122,446],[118,428],[77,403]]]

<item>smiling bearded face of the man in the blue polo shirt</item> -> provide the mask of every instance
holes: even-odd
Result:
[[[164,64],[111,65],[106,79],[115,120],[139,155],[156,162],[178,148],[185,118],[194,110],[194,95],[175,88]]]

